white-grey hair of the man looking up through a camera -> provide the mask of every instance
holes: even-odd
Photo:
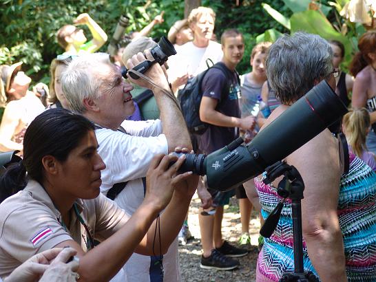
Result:
[[[105,53],[85,54],[74,58],[61,74],[61,87],[70,110],[85,113],[85,98],[97,99],[101,96],[103,83],[101,65],[112,65],[109,55]]]

